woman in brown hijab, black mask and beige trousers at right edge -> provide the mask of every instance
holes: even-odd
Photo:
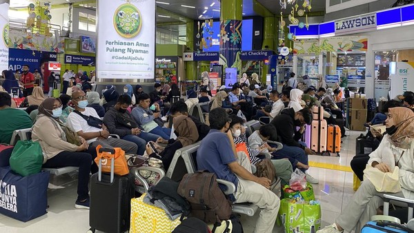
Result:
[[[386,134],[380,146],[369,156],[368,165],[381,172],[393,172],[398,166],[401,192],[393,196],[414,199],[414,113],[408,108],[390,108],[385,121]],[[344,211],[337,217],[335,223],[328,225],[319,233],[361,232],[361,228],[371,221],[382,205],[382,195],[368,179],[364,179]]]

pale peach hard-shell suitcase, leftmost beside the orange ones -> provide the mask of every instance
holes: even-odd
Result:
[[[311,149],[317,153],[326,152],[328,123],[326,120],[312,121]]]

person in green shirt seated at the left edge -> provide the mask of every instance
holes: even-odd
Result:
[[[23,110],[10,108],[12,97],[8,92],[0,92],[0,143],[10,143],[14,130],[32,128],[32,119]]]

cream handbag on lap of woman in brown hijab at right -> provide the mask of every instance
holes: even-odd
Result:
[[[364,170],[364,181],[369,180],[375,186],[377,192],[401,192],[398,174],[400,168],[394,167],[393,172],[382,172],[378,168],[373,168],[371,164],[367,164]]]

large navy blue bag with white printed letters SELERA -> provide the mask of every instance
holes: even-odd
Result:
[[[20,176],[4,167],[0,183],[0,214],[23,222],[46,214],[49,172]]]

